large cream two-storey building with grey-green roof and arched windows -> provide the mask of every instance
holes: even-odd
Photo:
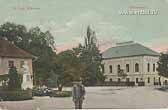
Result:
[[[163,84],[166,79],[157,72],[159,56],[159,53],[133,41],[117,43],[102,54],[105,81]]]

